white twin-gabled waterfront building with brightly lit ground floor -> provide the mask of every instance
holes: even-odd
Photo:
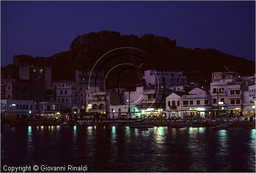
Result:
[[[211,109],[211,95],[199,88],[177,91],[166,97],[167,117],[207,117]]]

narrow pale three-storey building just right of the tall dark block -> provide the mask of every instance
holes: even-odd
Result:
[[[61,111],[72,110],[72,87],[71,80],[56,80],[52,82],[55,101],[61,104]]]

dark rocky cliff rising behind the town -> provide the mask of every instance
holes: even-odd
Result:
[[[15,55],[13,64],[1,67],[1,73],[17,75],[19,66],[52,67],[52,79],[75,80],[76,69],[91,69],[93,64],[106,52],[120,48],[134,47],[157,58],[162,70],[183,71],[188,81],[205,83],[211,80],[211,73],[222,71],[227,65],[230,70],[241,75],[253,75],[255,62],[221,53],[214,49],[185,49],[176,46],[176,40],[145,34],[120,35],[118,32],[101,31],[77,36],[70,45],[70,50],[60,52],[51,57],[32,57]],[[147,70],[148,67],[145,67]],[[116,86],[115,86],[116,87]]]

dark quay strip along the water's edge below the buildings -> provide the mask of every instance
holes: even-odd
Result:
[[[143,122],[145,119],[126,119],[126,120],[110,120],[110,119],[98,119],[98,120],[71,120],[71,121],[19,121],[14,124],[8,124],[8,126],[57,126],[65,125],[65,122],[70,122],[70,126],[82,125],[81,123],[89,123],[92,126],[127,126],[136,122]],[[219,118],[219,119],[146,119],[150,124],[154,126],[171,126],[175,123],[189,123],[189,125],[198,125],[202,127],[211,127],[219,124],[232,123],[230,127],[254,127],[255,120],[246,120],[243,118]],[[79,124],[80,123],[80,124]]]

